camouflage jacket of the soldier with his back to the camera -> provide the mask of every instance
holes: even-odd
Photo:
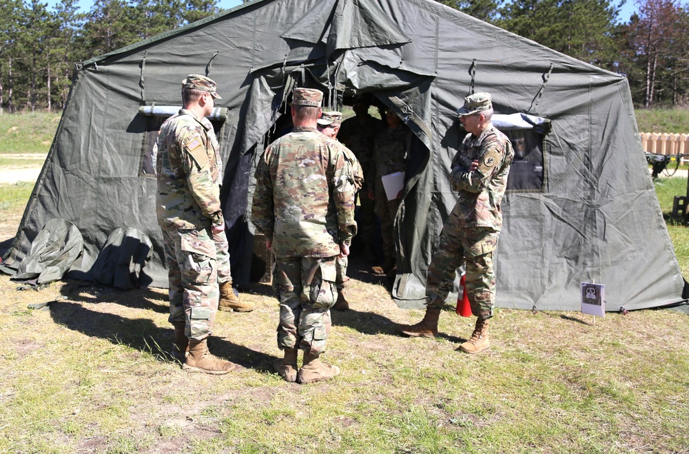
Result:
[[[352,163],[345,147],[294,127],[271,143],[256,168],[252,222],[278,257],[331,257],[356,234]]]

